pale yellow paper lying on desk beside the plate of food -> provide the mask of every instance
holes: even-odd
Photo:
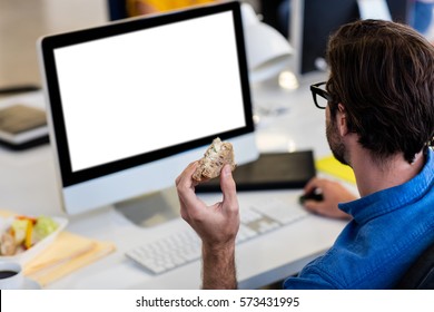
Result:
[[[46,286],[115,250],[112,243],[62,232],[46,251],[24,265],[24,275]]]

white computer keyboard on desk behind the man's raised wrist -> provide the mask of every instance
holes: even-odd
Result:
[[[236,244],[265,235],[306,217],[308,213],[298,206],[273,199],[240,211],[240,226]],[[162,274],[197,261],[201,255],[201,242],[189,227],[156,241],[147,242],[126,253],[140,266],[154,274]]]

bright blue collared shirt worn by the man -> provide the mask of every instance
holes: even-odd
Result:
[[[407,183],[339,208],[353,221],[285,289],[393,289],[434,242],[434,152],[428,148],[425,166]]]

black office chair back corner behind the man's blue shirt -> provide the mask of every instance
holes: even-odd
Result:
[[[396,290],[434,290],[434,244],[411,265]]]

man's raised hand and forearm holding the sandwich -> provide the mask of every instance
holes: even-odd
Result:
[[[239,228],[239,206],[230,166],[220,174],[223,201],[207,206],[196,196],[191,163],[176,179],[181,217],[203,241],[204,289],[236,289],[235,238]]]

